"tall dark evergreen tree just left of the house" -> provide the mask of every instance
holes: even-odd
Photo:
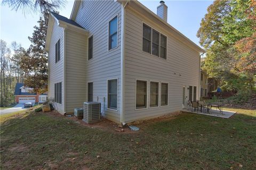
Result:
[[[31,37],[31,45],[26,55],[21,58],[21,68],[25,72],[25,86],[34,88],[35,92],[47,91],[47,53],[44,50],[49,13],[44,12]]]

